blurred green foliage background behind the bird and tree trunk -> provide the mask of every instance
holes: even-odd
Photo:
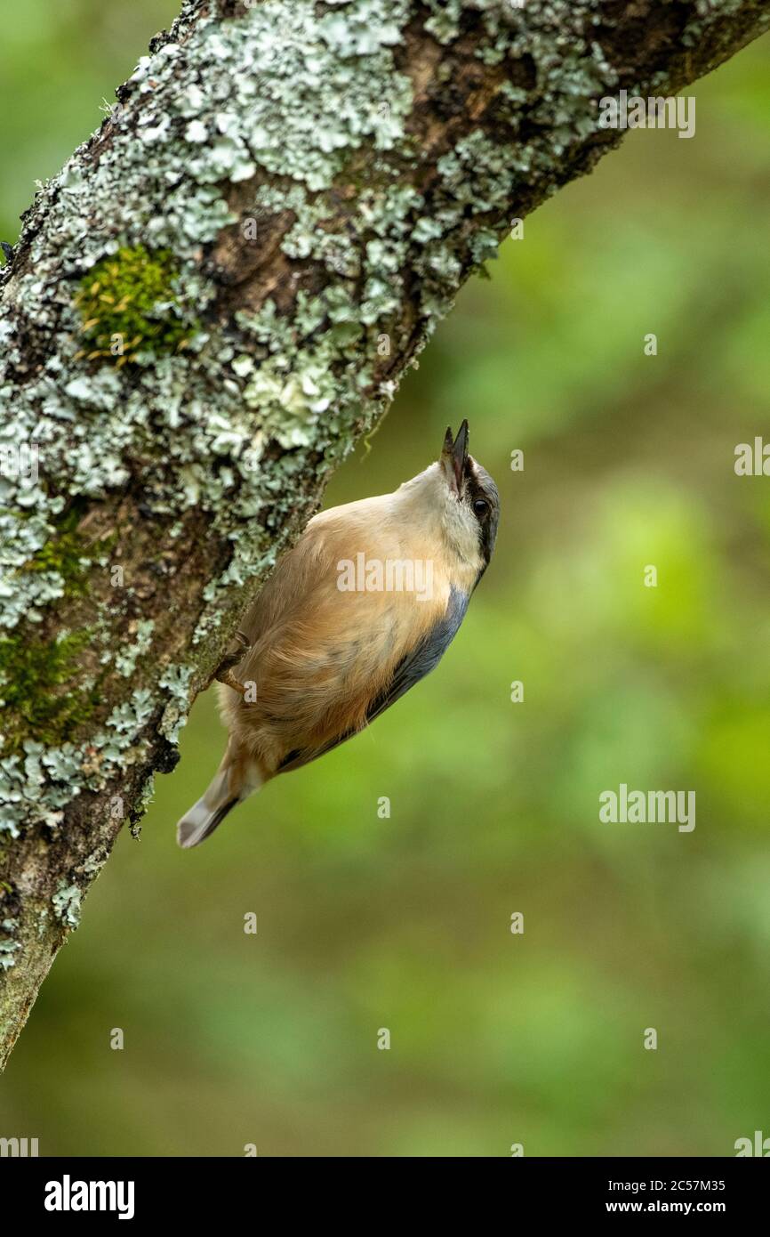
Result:
[[[2,239],[174,11],[1,0]],[[468,417],[503,518],[459,637],[371,731],[183,854],[222,746],[198,701],[43,987],[0,1134],[441,1157],[770,1134],[770,481],[733,471],[768,433],[769,49],[697,85],[695,139],[629,135],[465,288],[328,492],[393,489]],[[695,789],[695,831],[599,824],[620,782]]]

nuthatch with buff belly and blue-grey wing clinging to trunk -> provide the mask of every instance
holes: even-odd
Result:
[[[279,773],[357,735],[438,666],[497,537],[499,495],[468,423],[393,494],[314,516],[218,668],[229,730],[219,769],[179,820],[198,846]]]

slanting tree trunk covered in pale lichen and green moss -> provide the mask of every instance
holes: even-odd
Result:
[[[470,272],[760,0],[187,0],[0,272],[0,1068],[239,616]]]

